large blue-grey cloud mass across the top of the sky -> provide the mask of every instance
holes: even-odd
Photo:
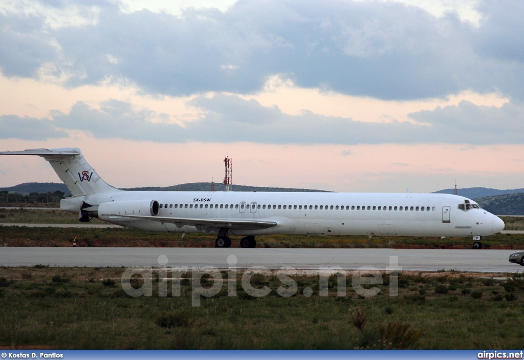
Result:
[[[305,88],[380,99],[463,90],[524,99],[520,2],[480,1],[478,27],[395,2],[239,1],[181,16],[85,6],[93,4],[101,9],[96,21],[78,26],[2,15],[4,74],[37,77],[47,66],[67,86],[125,81],[176,96],[253,93],[281,74]]]

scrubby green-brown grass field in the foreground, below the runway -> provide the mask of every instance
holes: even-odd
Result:
[[[496,282],[459,273],[410,273],[399,296],[358,296],[346,279],[337,297],[318,294],[318,276],[293,276],[298,293],[280,297],[275,275],[255,275],[268,296],[237,296],[227,287],[191,306],[191,281],[180,297],[129,297],[119,286],[123,268],[0,268],[0,347],[520,349],[524,343],[524,281]],[[185,276],[191,276],[187,273]],[[224,278],[226,275],[223,275]],[[154,277],[155,278],[155,277]],[[109,280],[108,280],[109,279]],[[212,279],[202,279],[209,287]],[[304,288],[313,289],[310,297]]]

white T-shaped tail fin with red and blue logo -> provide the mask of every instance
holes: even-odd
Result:
[[[73,197],[118,191],[105,183],[78,148],[3,151],[0,155],[38,155],[49,161]]]

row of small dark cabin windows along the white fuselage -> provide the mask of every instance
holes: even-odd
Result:
[[[238,209],[238,204],[160,204],[160,208],[184,208],[184,209]],[[254,206],[254,205],[253,205]],[[246,204],[245,209],[249,209],[250,205]],[[244,209],[244,204],[240,205],[240,209]],[[350,210],[350,205],[257,205],[257,209],[293,209],[293,210]],[[351,210],[377,210],[377,211],[435,211],[433,206],[371,206],[371,205],[352,205]]]

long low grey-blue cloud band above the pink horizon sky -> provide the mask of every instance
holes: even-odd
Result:
[[[370,123],[352,118],[324,116],[304,111],[282,113],[237,95],[198,96],[190,105],[201,111],[198,121],[182,125],[159,122],[162,114],[135,109],[123,101],[108,100],[100,109],[78,102],[69,113],[54,111],[50,119],[1,117],[4,137],[44,139],[81,130],[95,138],[148,140],[159,143],[185,141],[259,144],[522,144],[524,104],[513,101],[500,108],[462,101],[409,114],[413,122]],[[341,155],[352,154],[351,150]]]

